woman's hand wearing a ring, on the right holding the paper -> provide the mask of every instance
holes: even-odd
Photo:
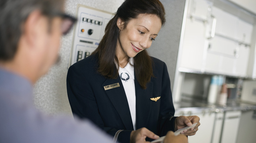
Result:
[[[187,131],[181,133],[183,135],[195,135],[198,131],[198,126],[200,126],[199,122],[200,118],[198,116],[180,116],[175,119],[175,130],[179,130],[181,128],[184,128],[186,126],[191,126],[194,123],[197,123],[197,125],[194,128],[188,129]]]

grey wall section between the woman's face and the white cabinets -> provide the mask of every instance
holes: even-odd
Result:
[[[159,58],[167,65],[173,89],[175,69],[181,37],[185,0],[160,0],[165,7],[166,23],[156,40],[148,49],[151,56]]]

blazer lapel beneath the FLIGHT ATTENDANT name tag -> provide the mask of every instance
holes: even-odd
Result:
[[[120,77],[117,79],[106,79],[102,86],[105,87],[116,83],[119,83],[120,87],[111,88],[105,90],[105,92],[117,110],[126,130],[134,130],[129,104]]]

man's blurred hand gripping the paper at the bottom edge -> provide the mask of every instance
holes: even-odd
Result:
[[[169,131],[166,134],[163,143],[187,143],[187,137],[185,135],[175,136],[172,131]]]

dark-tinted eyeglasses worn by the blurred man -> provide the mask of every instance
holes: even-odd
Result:
[[[51,14],[53,16],[59,16],[62,18],[62,24],[61,24],[61,32],[63,35],[66,35],[69,33],[70,29],[73,27],[77,19],[71,15],[65,14],[65,13],[54,13]]]

